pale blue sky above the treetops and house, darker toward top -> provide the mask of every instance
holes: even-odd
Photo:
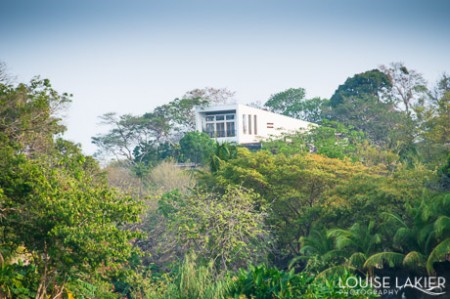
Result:
[[[0,0],[0,61],[74,95],[65,138],[83,151],[104,113],[143,114],[195,88],[239,103],[288,88],[329,98],[354,74],[403,62],[450,73],[448,0]]]

